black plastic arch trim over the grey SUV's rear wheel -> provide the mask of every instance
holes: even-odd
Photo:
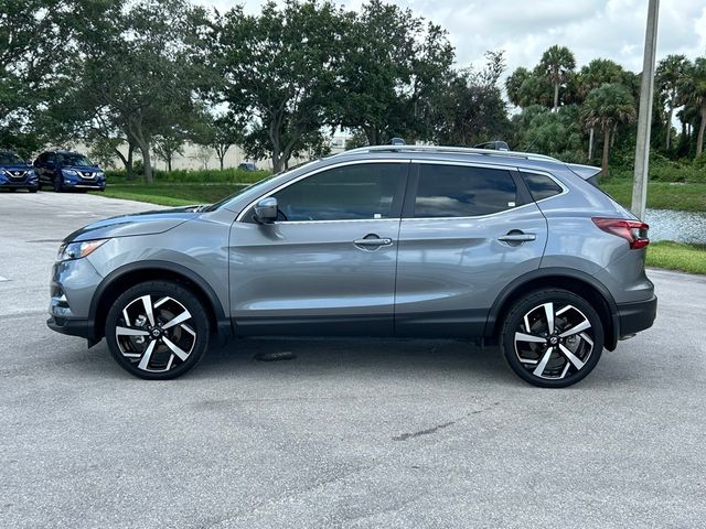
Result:
[[[503,289],[495,299],[485,323],[485,336],[498,336],[504,315],[522,295],[542,288],[565,289],[586,299],[601,319],[605,347],[613,350],[618,345],[620,322],[618,307],[610,291],[592,276],[565,268],[541,268],[521,276]]]

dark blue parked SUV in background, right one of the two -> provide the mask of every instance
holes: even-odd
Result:
[[[78,152],[46,151],[34,161],[39,185],[51,185],[60,193],[64,190],[106,188],[106,173]]]

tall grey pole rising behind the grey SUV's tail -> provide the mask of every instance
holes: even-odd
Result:
[[[635,176],[632,184],[632,213],[644,219],[648,203],[648,173],[650,169],[650,129],[652,127],[652,93],[654,90],[654,55],[657,47],[657,18],[660,0],[649,0],[648,29],[644,35],[642,86],[638,114],[638,144],[635,147]]]

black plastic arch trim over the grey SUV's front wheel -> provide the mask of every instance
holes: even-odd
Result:
[[[90,301],[94,342],[103,338],[105,323],[113,302],[127,289],[146,281],[173,281],[191,290],[206,309],[213,332],[221,341],[231,334],[231,320],[213,288],[186,267],[168,261],[148,260],[120,267],[104,278]]]

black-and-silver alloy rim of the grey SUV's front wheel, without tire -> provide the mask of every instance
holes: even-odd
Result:
[[[167,373],[185,363],[196,345],[186,307],[169,295],[140,295],[121,311],[115,327],[119,353],[147,373]]]

